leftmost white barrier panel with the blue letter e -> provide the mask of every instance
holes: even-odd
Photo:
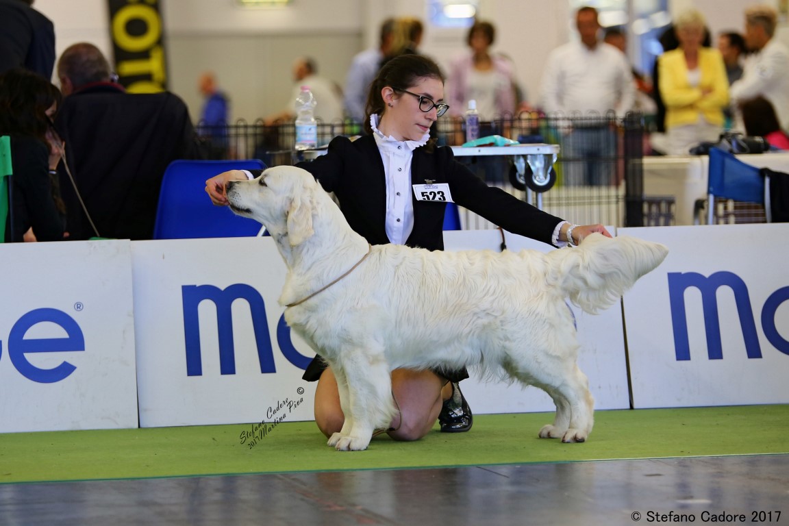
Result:
[[[0,245],[0,432],[137,427],[129,241]]]

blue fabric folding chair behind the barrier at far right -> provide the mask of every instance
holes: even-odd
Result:
[[[765,207],[765,216],[770,222],[769,185],[769,177],[762,175],[756,166],[746,164],[720,148],[710,148],[707,224],[714,224],[716,197],[759,203]]]

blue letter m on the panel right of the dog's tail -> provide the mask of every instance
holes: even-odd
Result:
[[[737,313],[748,357],[761,358],[759,337],[756,332],[756,321],[753,319],[753,309],[750,306],[748,287],[737,274],[722,271],[705,278],[697,272],[669,272],[668,296],[671,302],[671,324],[674,326],[674,347],[677,360],[690,360],[690,341],[685,312],[685,290],[690,287],[696,287],[701,291],[709,359],[721,360],[724,357],[723,345],[720,342],[720,319],[718,319],[718,300],[716,298],[717,290],[723,285],[731,287],[735,294]]]

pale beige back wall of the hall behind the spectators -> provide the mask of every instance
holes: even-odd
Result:
[[[742,31],[742,11],[759,0],[672,0],[677,13],[695,6],[713,35]],[[777,3],[777,0],[766,0]],[[324,76],[345,83],[355,52],[374,45],[380,21],[389,16],[427,20],[424,0],[298,0],[286,8],[241,9],[235,0],[160,0],[166,24],[170,90],[200,112],[196,77],[213,69],[233,100],[234,118],[253,120],[282,109],[290,88],[290,65],[310,54]],[[104,0],[37,0],[36,9],[55,24],[58,54],[81,40],[111,56]],[[529,99],[539,95],[550,50],[574,38],[569,2],[480,0],[479,16],[494,22],[495,49],[514,58],[518,80]],[[787,28],[779,38],[789,41]],[[465,29],[426,27],[422,50],[446,67],[466,50]]]

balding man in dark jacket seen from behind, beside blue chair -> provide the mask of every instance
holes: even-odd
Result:
[[[65,98],[55,126],[84,201],[61,170],[72,239],[151,239],[167,166],[200,157],[185,103],[170,92],[127,93],[90,43],[63,52],[58,77]]]

